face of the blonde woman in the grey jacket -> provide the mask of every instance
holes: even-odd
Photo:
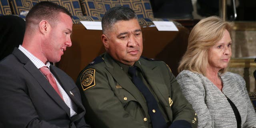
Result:
[[[232,54],[231,44],[230,34],[225,30],[222,39],[208,50],[209,68],[220,70],[228,66]]]

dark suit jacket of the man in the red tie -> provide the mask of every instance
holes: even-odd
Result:
[[[15,48],[0,62],[0,122],[4,128],[87,127],[76,84],[59,68],[51,65],[50,70],[78,107],[77,115],[70,118],[70,108],[32,61]]]

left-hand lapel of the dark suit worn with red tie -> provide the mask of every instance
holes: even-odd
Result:
[[[32,77],[38,82],[38,84],[44,89],[44,91],[57,103],[59,104],[70,116],[70,108],[66,105],[66,103],[60,98],[60,96],[56,93],[54,88],[50,85],[48,80],[44,77],[44,75],[36,68],[30,59],[23,54],[17,48],[12,53],[16,56],[20,62],[24,64],[24,68],[31,74]]]

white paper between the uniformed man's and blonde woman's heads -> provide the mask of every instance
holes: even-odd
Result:
[[[179,31],[171,21],[153,21],[158,31]]]

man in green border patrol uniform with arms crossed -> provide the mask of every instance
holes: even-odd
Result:
[[[102,18],[106,53],[78,76],[77,85],[95,128],[196,128],[197,116],[170,68],[141,58],[142,31],[135,12],[111,8]]]

